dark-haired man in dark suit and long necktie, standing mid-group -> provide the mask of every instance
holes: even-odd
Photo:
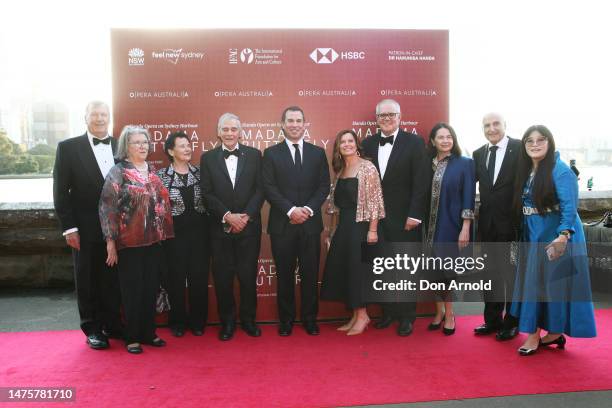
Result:
[[[268,233],[276,264],[277,304],[281,336],[291,335],[295,320],[295,268],[299,265],[302,322],[318,335],[318,278],[323,219],[321,206],[329,194],[325,150],[304,141],[304,111],[283,111],[285,140],[264,151],[264,192],[270,202]]]

